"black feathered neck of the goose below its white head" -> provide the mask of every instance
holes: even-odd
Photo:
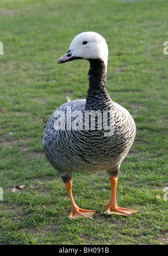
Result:
[[[85,109],[100,109],[108,104],[110,96],[106,89],[106,66],[101,60],[89,60],[89,88]]]

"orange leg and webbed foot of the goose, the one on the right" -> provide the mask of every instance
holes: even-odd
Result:
[[[138,212],[133,209],[120,208],[116,205],[116,184],[118,181],[118,177],[110,177],[111,182],[111,198],[110,203],[106,204],[105,207],[109,206],[109,208],[104,212],[105,214],[119,214],[122,216],[131,216],[131,213]]]

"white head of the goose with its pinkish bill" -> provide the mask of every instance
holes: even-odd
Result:
[[[108,45],[105,39],[96,32],[78,34],[71,42],[68,51],[59,58],[59,63],[77,59],[99,59],[108,66]]]

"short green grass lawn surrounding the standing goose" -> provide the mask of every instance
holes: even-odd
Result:
[[[167,10],[167,1],[1,0],[0,244],[167,244]],[[82,31],[106,38],[108,92],[136,122],[116,191],[120,207],[140,211],[131,218],[104,215],[105,172],[76,172],[76,204],[100,213],[70,220],[67,191],[43,153],[54,109],[67,96],[86,98],[88,62],[57,65]],[[26,188],[11,193],[16,185]]]

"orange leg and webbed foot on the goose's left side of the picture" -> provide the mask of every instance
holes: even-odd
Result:
[[[83,210],[80,207],[78,207],[73,200],[73,196],[72,196],[72,182],[68,182],[66,184],[64,184],[66,187],[66,190],[68,192],[69,195],[69,199],[71,200],[71,214],[69,215],[70,218],[72,218],[73,220],[76,220],[76,218],[78,217],[86,217],[86,218],[91,218],[93,216],[94,213],[96,213],[97,211],[88,211],[88,210]]]

